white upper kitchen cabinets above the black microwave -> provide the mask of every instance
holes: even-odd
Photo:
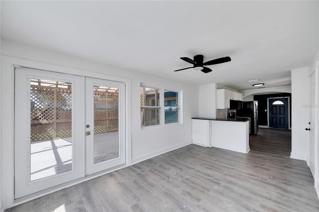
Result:
[[[217,94],[216,94],[217,109],[230,108],[230,104],[229,104],[230,100],[243,101],[243,94],[226,90],[226,89],[217,89]]]

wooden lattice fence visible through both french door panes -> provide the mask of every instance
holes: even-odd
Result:
[[[31,141],[72,136],[72,92],[68,83],[31,79]],[[94,132],[119,130],[118,92],[94,91]]]

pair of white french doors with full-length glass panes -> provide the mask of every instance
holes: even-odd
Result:
[[[15,68],[14,198],[125,164],[125,84]]]

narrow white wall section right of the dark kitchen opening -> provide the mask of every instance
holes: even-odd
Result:
[[[308,67],[293,69],[292,76],[292,151],[291,157],[307,160],[309,148]]]

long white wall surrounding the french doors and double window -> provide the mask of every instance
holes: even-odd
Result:
[[[1,154],[1,199],[2,210],[13,203],[13,73],[12,64],[34,68],[46,67],[47,70],[99,77],[101,74],[115,78],[130,79],[130,128],[132,163],[154,157],[164,152],[191,143],[191,117],[198,116],[198,86],[169,79],[155,77],[141,72],[97,63],[46,49],[25,45],[9,40],[1,43],[1,126],[5,134],[0,137]],[[140,84],[147,83],[154,87],[182,91],[182,124],[167,124],[141,129]],[[5,92],[4,92],[5,90]],[[215,91],[213,91],[215,94]],[[215,100],[215,95],[211,96]],[[214,101],[213,101],[214,102]],[[213,108],[215,111],[215,108]],[[5,124],[3,124],[5,122]]]

